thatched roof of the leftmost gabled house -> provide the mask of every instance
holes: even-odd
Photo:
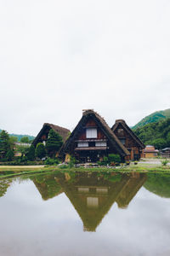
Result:
[[[70,134],[70,130],[66,129],[66,128],[63,128],[63,127],[60,127],[58,125],[53,125],[53,124],[48,124],[48,123],[45,123],[43,124],[42,126],[42,130],[37,134],[37,137],[35,137],[34,141],[33,141],[33,145],[37,145],[39,139],[42,137],[44,131],[46,130],[50,130],[50,129],[53,129],[54,131],[58,132],[59,135],[63,138],[63,141],[65,142],[66,138],[69,136]]]

